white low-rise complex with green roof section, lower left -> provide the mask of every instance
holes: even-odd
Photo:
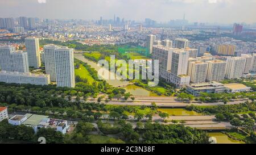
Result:
[[[28,127],[32,127],[34,132],[38,132],[40,128],[53,128],[55,131],[59,131],[63,134],[67,133],[69,126],[67,120],[52,119],[44,115],[26,114],[15,115],[9,119],[9,124],[21,125],[24,124]]]

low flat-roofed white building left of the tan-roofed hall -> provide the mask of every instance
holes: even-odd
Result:
[[[189,94],[199,96],[200,93],[225,93],[226,87],[219,82],[192,83],[186,88]]]

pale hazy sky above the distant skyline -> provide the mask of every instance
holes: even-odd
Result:
[[[256,0],[0,0],[0,17],[256,22]]]

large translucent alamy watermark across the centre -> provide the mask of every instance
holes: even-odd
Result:
[[[152,81],[148,83],[148,86],[156,86],[159,82],[158,63],[158,60],[129,60],[127,64],[125,60],[115,60],[115,55],[111,55],[110,62],[104,59],[98,61],[98,65],[101,66],[100,70],[98,70],[98,78],[148,79]]]

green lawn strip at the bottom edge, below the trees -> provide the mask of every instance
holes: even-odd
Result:
[[[91,144],[125,144],[124,141],[115,139],[113,137],[101,135],[89,135],[89,142]]]

